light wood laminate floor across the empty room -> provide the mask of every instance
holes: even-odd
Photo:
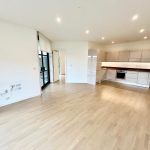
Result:
[[[0,150],[150,150],[150,91],[50,85],[0,108]]]

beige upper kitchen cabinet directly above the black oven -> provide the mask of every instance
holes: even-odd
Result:
[[[130,56],[130,51],[120,51],[118,61],[119,62],[128,62]]]

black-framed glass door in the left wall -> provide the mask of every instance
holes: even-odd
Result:
[[[45,88],[50,83],[50,71],[49,71],[49,53],[39,51],[40,61],[40,82],[41,88]]]

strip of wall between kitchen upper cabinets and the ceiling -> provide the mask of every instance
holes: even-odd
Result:
[[[150,50],[150,40],[121,43],[121,44],[111,44],[103,47],[105,51],[121,51],[121,50]]]

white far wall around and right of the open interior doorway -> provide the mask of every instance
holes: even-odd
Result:
[[[66,54],[66,82],[87,83],[88,42],[53,42],[53,50]]]

